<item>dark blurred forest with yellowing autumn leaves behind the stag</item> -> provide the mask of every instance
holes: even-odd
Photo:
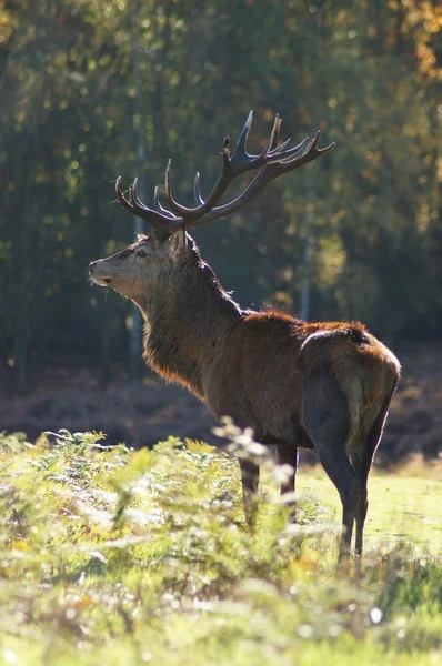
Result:
[[[195,232],[222,284],[243,306],[358,319],[394,351],[438,350],[441,23],[420,0],[0,0],[0,428],[32,431],[26,398],[8,401],[41,397],[42,377],[58,384],[33,417],[53,416],[80,367],[101,394],[120,382],[120,402],[129,374],[157,391],[132,305],[88,279],[134,238],[114,180],[138,175],[151,203],[172,158],[190,203],[194,172],[204,194],[250,109],[253,152],[275,112],[283,139],[320,128],[336,148]],[[46,426],[69,426],[73,393]],[[106,430],[109,400],[83,430]]]

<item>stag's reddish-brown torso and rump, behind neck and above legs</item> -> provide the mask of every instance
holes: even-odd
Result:
[[[199,397],[217,418],[252,427],[262,443],[315,448],[313,432],[338,421],[351,455],[386,412],[398,382],[398,361],[359,322],[253,313],[225,343]]]

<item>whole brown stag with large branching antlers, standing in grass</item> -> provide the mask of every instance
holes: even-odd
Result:
[[[173,196],[171,160],[163,189],[154,190],[154,208],[139,199],[137,179],[123,192],[119,176],[117,202],[152,231],[91,262],[90,276],[140,309],[143,359],[151,369],[187,387],[215,418],[228,416],[251,428],[257,442],[277,451],[278,463],[291,470],[281,494],[294,494],[299,448],[315,452],[342,503],[339,561],[351,553],[354,524],[360,558],[368,477],[400,379],[398,359],[358,321],[309,322],[277,310],[240,307],[189,234],[238,211],[272,180],[334,148],[319,148],[319,131],[295,147],[290,139],[280,143],[277,114],[265,148],[250,154],[252,118],[251,111],[233,151],[229,137],[224,139],[220,173],[207,199],[197,172],[193,208]],[[232,181],[249,172],[253,178],[248,186],[220,204]],[[250,498],[258,491],[260,466],[247,457],[239,463],[251,524]]]

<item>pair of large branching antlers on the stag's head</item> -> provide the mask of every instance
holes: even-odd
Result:
[[[164,195],[169,208],[171,209],[170,211],[161,205],[158,188],[155,188],[153,196],[155,210],[144,205],[137,194],[137,179],[133,181],[133,184],[129,186],[129,199],[127,199],[125,193],[121,191],[121,176],[117,179],[115,190],[118,202],[131,213],[139,215],[152,224],[161,235],[170,235],[179,229],[203,226],[213,220],[229,215],[233,211],[242,208],[270,181],[289,171],[294,171],[294,169],[299,169],[308,162],[312,162],[334,148],[334,143],[331,143],[323,149],[318,148],[320,137],[319,131],[314,139],[305,138],[301,143],[293,148],[289,148],[288,150],[285,149],[290,143],[290,139],[278,145],[282,120],[277,114],[272,132],[264,150],[258,155],[251,155],[247,152],[247,140],[252,119],[253,111],[250,111],[232,154],[230,153],[230,139],[229,137],[224,139],[221,172],[211,193],[205,200],[201,195],[200,174],[198,172],[195,173],[193,195],[197,205],[194,208],[181,205],[173,199],[170,176],[171,160],[168,161],[164,179]],[[259,170],[257,175],[237,199],[217,206],[217,203],[220,201],[230,183],[238,175],[249,171],[255,171],[257,169]]]

